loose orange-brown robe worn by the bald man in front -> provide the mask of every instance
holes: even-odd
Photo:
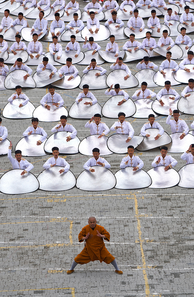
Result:
[[[97,236],[97,230],[100,234],[105,235],[106,238]],[[92,230],[89,225],[83,227],[78,235],[79,242],[82,242],[82,237],[85,237],[88,233],[90,233],[90,235],[88,239],[86,239],[85,247],[80,254],[75,257],[75,262],[78,264],[86,264],[90,261],[99,260],[100,263],[105,262],[106,264],[110,264],[114,261],[115,257],[108,252],[103,241],[103,239],[110,241],[110,234],[105,228],[97,224],[94,230]]]

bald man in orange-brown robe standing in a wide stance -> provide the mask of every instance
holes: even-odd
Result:
[[[75,257],[71,268],[67,271],[67,274],[74,272],[74,268],[77,264],[86,264],[90,261],[99,260],[100,263],[112,264],[115,268],[115,272],[122,274],[119,270],[115,257],[113,257],[105,247],[104,240],[110,241],[110,234],[104,227],[96,224],[95,217],[89,217],[89,225],[82,228],[78,235],[79,242],[85,240],[85,247],[77,257]]]

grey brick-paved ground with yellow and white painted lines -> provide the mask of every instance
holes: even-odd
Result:
[[[82,10],[85,4],[80,1]],[[32,26],[33,21],[28,22]],[[193,40],[194,34],[190,36]],[[125,41],[118,42],[120,49]],[[99,44],[104,49],[106,41]],[[43,42],[43,45],[47,52],[48,44]],[[61,45],[64,48],[66,42]],[[162,57],[153,59],[158,65],[162,60]],[[132,74],[135,74],[137,63],[127,64]],[[108,74],[110,65],[104,63],[102,66]],[[85,66],[76,67],[82,75]],[[33,73],[35,69],[33,67]],[[175,89],[180,94],[184,86],[175,86]],[[127,89],[130,97],[135,89]],[[160,89],[157,87],[153,90],[157,93]],[[37,107],[47,89],[38,89],[38,94],[37,90],[23,91]],[[61,94],[69,110],[80,89],[56,91]],[[108,99],[104,91],[93,92],[101,106]],[[1,111],[11,94],[13,90],[1,91]],[[182,115],[181,118],[186,119],[190,127],[193,116]],[[134,127],[135,135],[138,135],[146,120],[128,120]],[[77,129],[80,140],[89,135],[89,130],[84,128],[85,120],[69,118],[68,121]],[[105,118],[103,121],[110,127],[114,119]],[[170,134],[166,116],[159,116],[157,121]],[[8,139],[15,148],[23,131],[30,125],[30,119],[3,119],[2,124],[7,127]],[[50,130],[56,123],[40,124],[50,136]],[[144,170],[147,171],[159,150],[136,151],[136,154],[143,159]],[[171,155],[178,160],[178,171],[185,163],[180,159],[181,154]],[[42,165],[49,157],[27,158],[34,165],[32,173],[35,176],[43,170]],[[81,154],[63,157],[76,177],[83,171],[83,164],[89,158]],[[122,157],[122,154],[105,157],[111,163],[113,173],[119,170]],[[0,161],[2,175],[11,169],[11,164],[7,156],[0,156]],[[26,195],[1,194],[0,199],[1,296],[193,296],[192,189],[176,186],[170,189],[84,192],[74,187],[60,193],[38,190]],[[74,274],[66,274],[72,260],[83,248],[83,244],[78,243],[77,235],[87,224],[90,215],[95,215],[97,223],[110,232],[111,240],[106,243],[106,247],[115,255],[123,270],[122,276],[115,274],[111,265],[99,262],[78,265]]]

